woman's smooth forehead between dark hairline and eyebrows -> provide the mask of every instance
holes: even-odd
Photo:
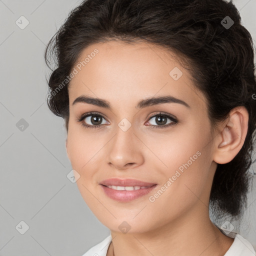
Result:
[[[110,102],[134,100],[134,105],[153,95],[186,98],[188,104],[198,100],[190,74],[178,57],[154,44],[95,43],[82,50],[74,68],[77,73],[69,83],[70,102],[82,94]]]

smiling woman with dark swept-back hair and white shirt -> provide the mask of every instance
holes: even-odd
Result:
[[[69,13],[45,51],[57,60],[47,102],[111,232],[84,256],[255,255],[232,232],[254,142],[252,46],[223,0],[86,0]]]

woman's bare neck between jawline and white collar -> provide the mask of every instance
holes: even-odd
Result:
[[[211,222],[208,207],[198,205],[177,219],[141,233],[111,231],[107,256],[223,256],[233,242]]]

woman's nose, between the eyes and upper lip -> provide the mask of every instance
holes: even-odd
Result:
[[[126,131],[117,127],[116,134],[109,142],[107,161],[113,168],[134,168],[143,163],[143,143],[134,133],[132,126]]]

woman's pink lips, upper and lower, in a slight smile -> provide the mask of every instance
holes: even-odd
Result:
[[[100,182],[101,187],[105,194],[119,202],[127,202],[134,200],[140,196],[143,196],[149,193],[152,189],[154,189],[157,184],[144,182],[136,179],[117,179],[110,178]],[[136,190],[115,190],[107,187],[106,185],[115,185],[115,186],[147,186],[145,188],[140,188]]]

